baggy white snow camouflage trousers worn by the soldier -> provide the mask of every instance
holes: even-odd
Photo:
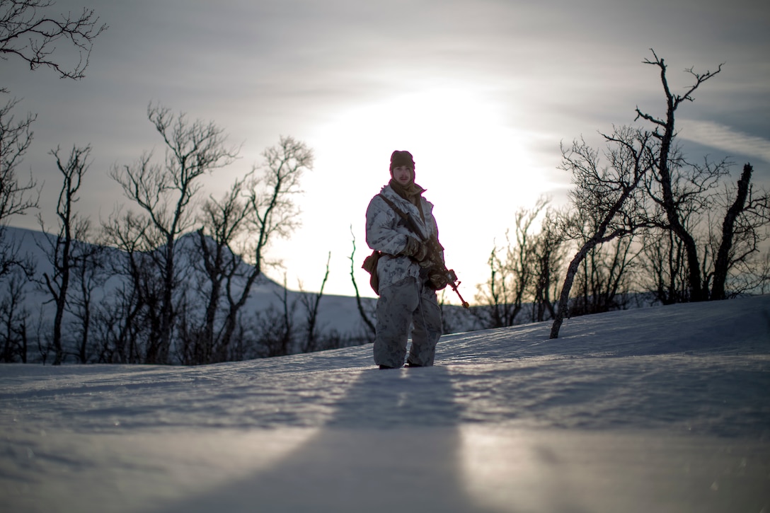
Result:
[[[374,364],[403,365],[410,326],[412,344],[407,363],[423,367],[433,365],[436,344],[441,336],[441,309],[436,292],[427,287],[424,280],[413,277],[380,289]]]

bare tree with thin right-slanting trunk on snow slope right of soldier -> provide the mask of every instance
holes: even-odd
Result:
[[[583,140],[573,142],[571,149],[562,147],[561,169],[572,174],[574,183],[569,193],[574,213],[564,223],[564,233],[583,242],[567,267],[551,338],[559,336],[575,275],[588,253],[600,244],[650,226],[641,185],[654,162],[651,134],[621,127],[603,136],[608,144],[604,152],[607,165]]]

